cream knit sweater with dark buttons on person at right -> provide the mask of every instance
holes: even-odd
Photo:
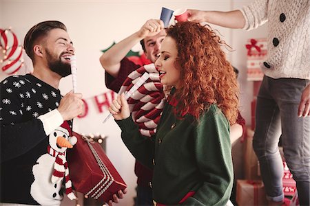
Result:
[[[310,79],[309,5],[310,0],[256,0],[240,10],[245,30],[268,21],[267,59],[261,64],[266,76]]]

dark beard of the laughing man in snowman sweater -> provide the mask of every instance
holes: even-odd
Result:
[[[45,51],[46,59],[48,60],[48,67],[50,68],[50,70],[58,73],[61,77],[65,77],[71,74],[71,65],[61,61],[61,56],[63,56],[63,54],[67,54],[68,52],[61,53],[61,55],[59,55],[59,58],[57,59],[52,56],[48,49],[46,49]]]

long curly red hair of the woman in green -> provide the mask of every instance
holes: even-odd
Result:
[[[236,73],[227,61],[221,46],[227,44],[199,23],[183,22],[167,28],[178,49],[176,64],[180,67],[182,84],[173,97],[178,101],[176,115],[190,113],[199,116],[216,103],[229,120],[238,117],[238,84]]]

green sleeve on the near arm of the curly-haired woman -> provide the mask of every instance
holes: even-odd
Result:
[[[212,106],[200,119],[194,136],[196,164],[203,184],[183,204],[226,205],[234,181],[229,123],[223,113]]]

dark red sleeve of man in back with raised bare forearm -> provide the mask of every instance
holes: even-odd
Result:
[[[128,58],[123,58],[123,60],[121,60],[121,69],[118,72],[117,78],[114,78],[110,73],[105,71],[105,86],[107,86],[107,89],[111,89],[118,93],[128,74],[132,73],[132,71],[139,67],[141,66],[134,64],[134,62],[130,61]]]

